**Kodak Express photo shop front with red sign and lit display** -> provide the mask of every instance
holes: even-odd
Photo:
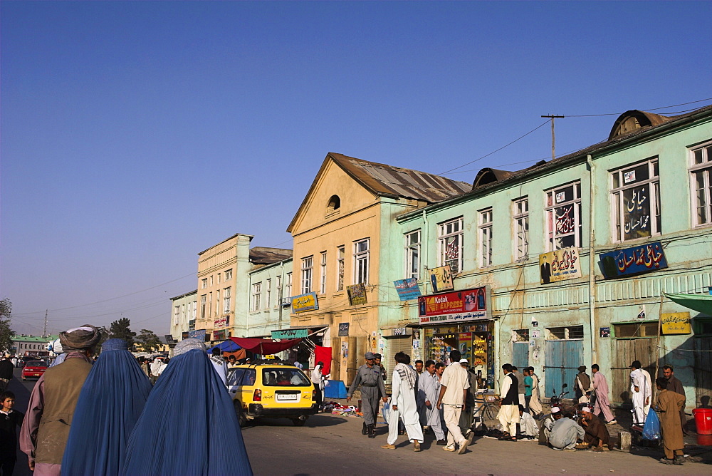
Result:
[[[459,350],[477,373],[480,388],[493,388],[495,376],[495,331],[488,304],[486,286],[418,299],[424,358],[449,363],[450,351]]]

